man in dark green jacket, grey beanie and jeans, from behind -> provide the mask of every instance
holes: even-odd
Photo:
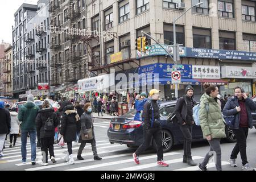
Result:
[[[24,104],[19,110],[19,121],[21,123],[21,141],[22,141],[22,163],[26,163],[27,160],[27,134],[30,134],[31,144],[31,164],[35,165],[36,159],[36,126],[35,120],[38,115],[39,107],[34,104],[34,96],[29,94],[27,96],[27,103]]]

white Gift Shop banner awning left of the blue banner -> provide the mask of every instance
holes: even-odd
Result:
[[[80,93],[106,89],[106,88],[109,88],[109,86],[112,86],[114,84],[115,84],[114,73],[92,77],[92,78],[86,78],[84,80],[79,80],[77,82],[78,92]]]

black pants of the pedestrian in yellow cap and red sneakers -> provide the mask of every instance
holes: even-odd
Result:
[[[144,126],[146,127],[146,126]],[[144,130],[144,141],[139,146],[139,148],[135,151],[136,155],[141,155],[142,152],[144,152],[148,147],[151,146],[151,139],[152,137],[155,140],[156,146],[157,146],[157,155],[158,155],[158,161],[163,160],[163,146],[162,146],[162,132],[160,127],[158,128],[152,128],[152,127],[146,127],[146,130]]]

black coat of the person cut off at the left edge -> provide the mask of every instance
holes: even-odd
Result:
[[[6,109],[0,109],[0,134],[9,134],[11,129],[10,112]]]

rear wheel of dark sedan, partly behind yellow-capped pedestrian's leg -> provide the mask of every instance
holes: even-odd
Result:
[[[174,138],[172,137],[170,131],[162,130],[162,145],[163,145],[163,152],[170,151],[172,145],[174,144]],[[153,140],[152,146],[156,149],[155,140]]]

